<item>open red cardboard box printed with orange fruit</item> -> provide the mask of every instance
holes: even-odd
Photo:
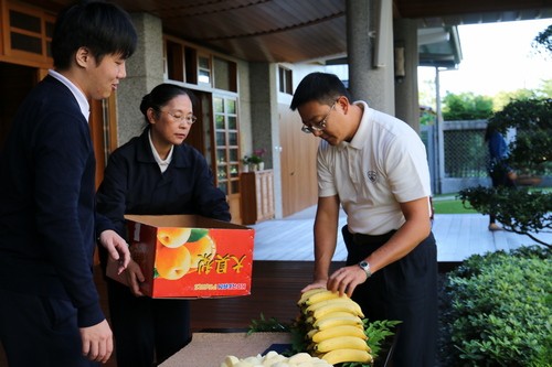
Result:
[[[197,215],[127,215],[128,242],[151,298],[251,294],[254,229]],[[109,260],[107,276],[126,285]]]

